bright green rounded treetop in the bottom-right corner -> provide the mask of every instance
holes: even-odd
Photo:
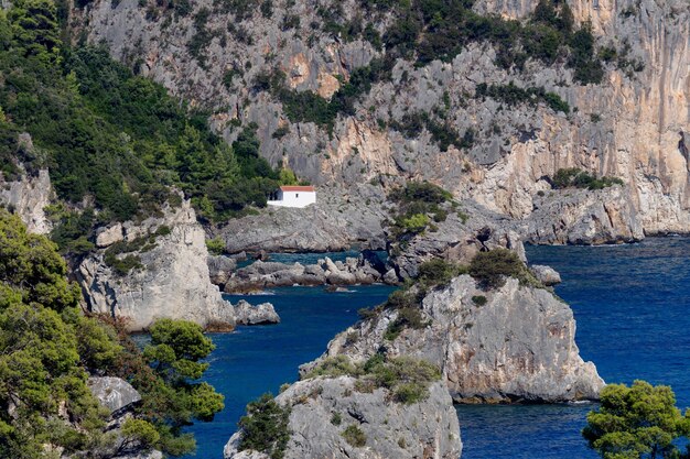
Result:
[[[690,457],[676,446],[689,433],[690,413],[681,415],[669,386],[635,381],[604,387],[582,436],[604,459],[658,459]]]

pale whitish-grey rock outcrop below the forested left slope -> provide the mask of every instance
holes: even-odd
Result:
[[[117,242],[87,256],[76,273],[90,312],[127,318],[132,331],[162,317],[184,318],[215,330],[235,326],[231,305],[211,283],[204,230],[188,201],[165,208],[162,218],[114,228],[117,231],[107,230],[115,232],[108,241]],[[141,243],[142,239],[148,242]],[[116,244],[123,252],[110,253],[109,259],[108,250]],[[112,258],[125,261],[128,256],[139,258],[136,265],[118,272]]]

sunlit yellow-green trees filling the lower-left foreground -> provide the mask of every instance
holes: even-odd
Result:
[[[82,314],[56,247],[0,210],[0,457],[35,459],[44,445],[65,452],[111,450],[108,412],[86,385],[89,374],[120,376],[141,394],[128,444],[171,455],[194,449],[182,427],[223,407],[198,383],[213,349],[198,326],[161,320],[142,353],[121,328]]]

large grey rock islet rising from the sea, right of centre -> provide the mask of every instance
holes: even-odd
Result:
[[[484,292],[468,275],[459,276],[423,299],[429,325],[406,328],[389,341],[386,331],[397,316],[384,310],[348,328],[322,359],[345,354],[362,361],[380,350],[424,359],[441,367],[461,403],[596,400],[604,385],[594,364],[579,354],[570,307],[515,278]]]

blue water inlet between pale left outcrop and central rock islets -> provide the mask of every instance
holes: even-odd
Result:
[[[357,321],[357,309],[382,303],[390,292],[391,287],[370,285],[337,293],[281,287],[269,296],[227,295],[233,303],[272,303],[281,323],[211,335],[217,348],[205,380],[225,395],[225,409],[212,423],[188,429],[196,437],[196,457],[222,459],[223,447],[237,430],[248,402],[266,392],[278,394],[282,383],[297,381],[298,367],[321,356],[328,340]]]

